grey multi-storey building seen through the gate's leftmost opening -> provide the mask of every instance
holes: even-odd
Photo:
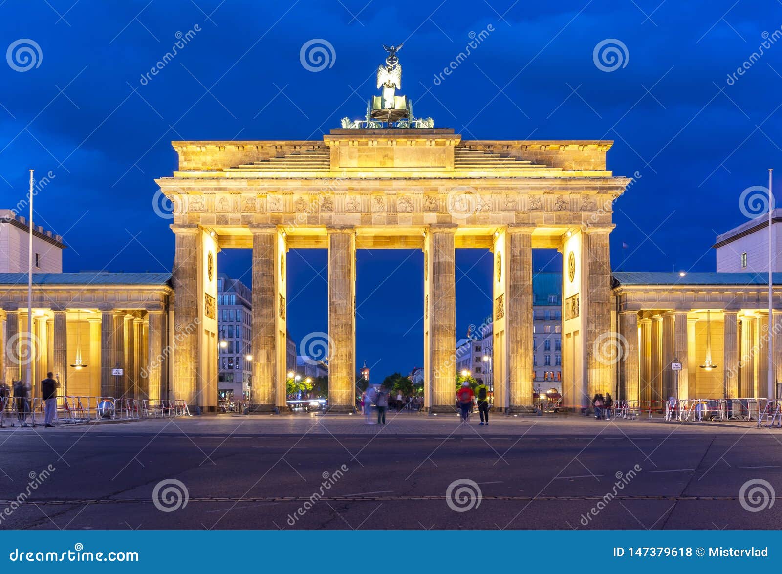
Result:
[[[250,353],[252,292],[239,281],[221,273],[217,278],[217,328],[220,351],[217,361],[217,388],[222,398],[249,397],[252,375]]]

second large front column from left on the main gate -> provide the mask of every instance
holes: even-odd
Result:
[[[277,228],[253,228],[253,411],[274,409],[277,384],[276,254]],[[331,371],[331,366],[329,366]],[[329,372],[329,387],[332,384]]]

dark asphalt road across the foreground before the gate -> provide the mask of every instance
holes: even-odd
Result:
[[[769,505],[782,492],[779,431],[563,423],[545,432],[271,436],[225,418],[209,432],[204,421],[3,429],[0,529],[782,526],[782,504]],[[48,465],[48,476],[30,479]],[[166,486],[155,495],[161,481],[184,488],[187,504]],[[761,490],[742,504],[748,481],[748,494]],[[10,504],[27,490],[25,504]]]

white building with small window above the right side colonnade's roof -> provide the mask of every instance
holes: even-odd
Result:
[[[771,242],[771,271],[782,271],[782,260],[779,257],[782,249],[782,209],[771,213]],[[717,235],[713,247],[717,252],[717,271],[720,273],[769,271],[768,213]]]

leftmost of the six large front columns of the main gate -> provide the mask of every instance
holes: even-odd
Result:
[[[174,322],[178,337],[174,350],[173,397],[199,404],[199,227],[171,225],[174,230]],[[203,402],[203,401],[202,401]]]

